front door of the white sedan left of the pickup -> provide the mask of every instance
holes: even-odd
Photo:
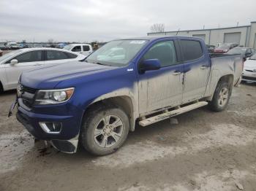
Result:
[[[5,64],[5,71],[7,74],[7,87],[8,88],[16,88],[18,84],[18,78],[23,71],[28,71],[30,69],[36,69],[41,66],[44,61],[42,59],[42,50],[25,52],[20,55],[17,55],[15,58],[18,63],[15,65],[11,65],[10,59]]]

